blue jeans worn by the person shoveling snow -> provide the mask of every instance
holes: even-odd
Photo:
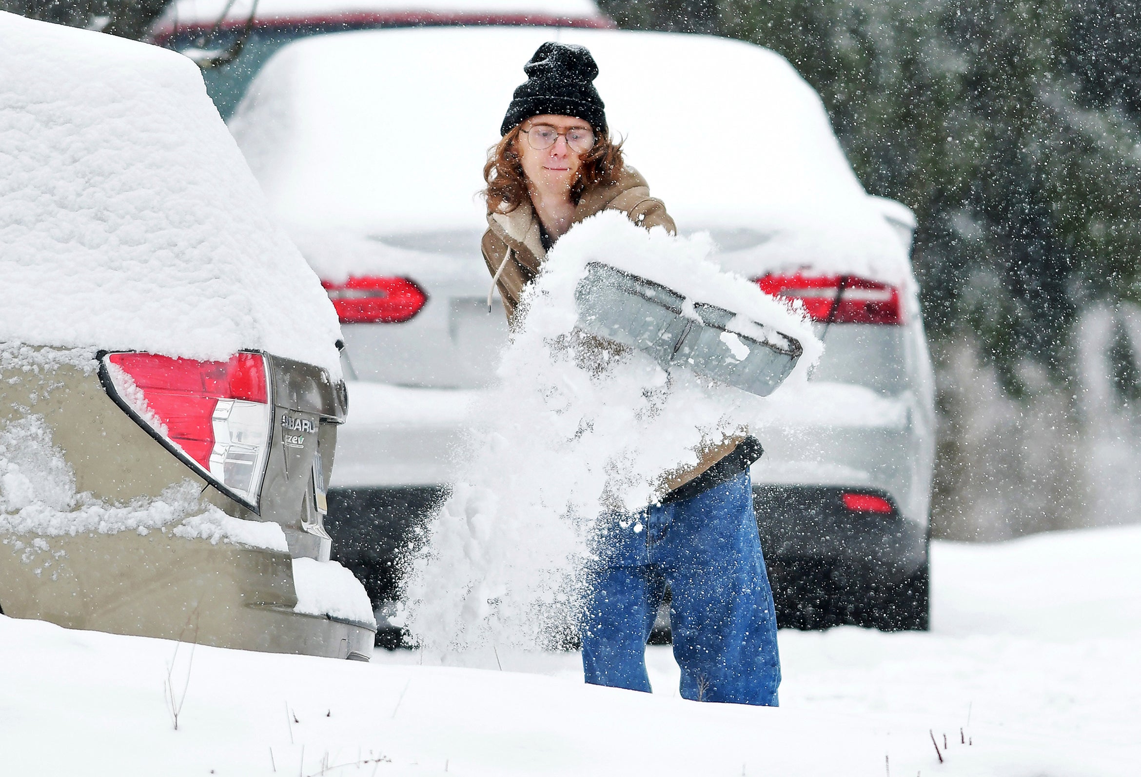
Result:
[[[586,682],[649,691],[646,640],[669,584],[681,696],[776,706],[777,624],[748,472],[601,524],[582,636]]]

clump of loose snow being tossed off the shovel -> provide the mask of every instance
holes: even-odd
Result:
[[[521,323],[475,418],[471,458],[410,559],[406,625],[429,648],[558,641],[580,612],[596,518],[636,513],[704,444],[747,428],[763,399],[664,372],[649,356],[599,347],[575,327],[574,289],[591,261],[720,303],[795,337],[802,383],[822,345],[809,323],[709,260],[707,238],[645,230],[624,215],[575,226],[521,300]],[[778,389],[787,390],[786,388]],[[636,518],[632,518],[636,520]]]

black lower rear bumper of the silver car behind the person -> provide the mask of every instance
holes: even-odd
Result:
[[[851,512],[843,493],[895,501],[885,492],[826,486],[753,488],[758,529],[783,626],[817,628],[882,622],[880,599],[926,570],[926,527],[891,515]],[[333,559],[364,582],[377,613],[378,644],[399,645],[386,609],[399,597],[399,569],[422,542],[422,527],[444,486],[332,488],[325,526]],[[925,596],[925,594],[924,594]],[[924,605],[925,607],[925,605]]]

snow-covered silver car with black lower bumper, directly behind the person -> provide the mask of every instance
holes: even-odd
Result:
[[[521,64],[552,37],[593,52],[612,131],[681,232],[707,232],[722,266],[800,300],[824,338],[812,380],[778,390],[754,429],[782,623],[924,628],[934,422],[914,216],[864,191],[785,59],[698,35],[374,31],[266,64],[229,124],[341,316],[353,411],[330,518],[342,560],[383,615],[395,559],[494,380],[507,326],[486,302],[480,162]]]

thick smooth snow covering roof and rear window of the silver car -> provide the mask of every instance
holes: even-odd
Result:
[[[713,233],[727,267],[911,278],[817,94],[783,57],[739,41],[526,27],[323,35],[265,65],[230,129],[297,228],[478,232],[487,148],[523,64],[552,39],[593,52],[628,161],[680,230]]]

